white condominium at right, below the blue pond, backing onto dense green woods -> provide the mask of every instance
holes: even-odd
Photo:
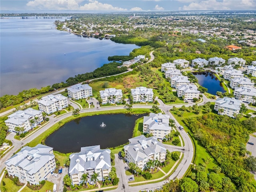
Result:
[[[239,113],[241,104],[242,104],[242,101],[235,98],[229,98],[229,97],[218,98],[215,102],[214,110],[218,111],[218,114],[220,115],[227,115],[230,117],[234,117],[234,114]]]

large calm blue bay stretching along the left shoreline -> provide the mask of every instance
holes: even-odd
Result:
[[[1,96],[65,82],[138,48],[58,31],[55,20],[0,19]]]

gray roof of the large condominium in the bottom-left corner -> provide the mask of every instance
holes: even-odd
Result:
[[[49,160],[54,159],[54,155],[49,153],[52,149],[52,147],[42,144],[38,144],[33,148],[26,146],[8,159],[5,164],[7,166],[19,166],[26,173],[32,175],[40,170]]]

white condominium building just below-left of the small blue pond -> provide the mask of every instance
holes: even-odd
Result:
[[[188,84],[178,87],[177,90],[178,97],[184,96],[184,101],[193,100],[193,98],[199,98],[200,91],[198,91],[197,86]]]

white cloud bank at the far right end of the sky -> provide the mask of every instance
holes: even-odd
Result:
[[[255,0],[203,0],[184,5],[180,10],[255,10]]]

